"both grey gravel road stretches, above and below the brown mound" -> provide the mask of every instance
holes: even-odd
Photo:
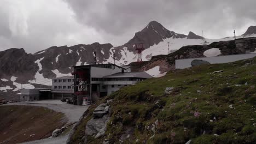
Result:
[[[65,113],[68,118],[69,123],[78,122],[79,118],[83,115],[83,113],[88,109],[89,106],[79,106],[72,105],[67,103],[62,103],[60,100],[41,100],[41,101],[31,101],[31,102],[19,102],[19,103],[11,103],[7,105],[31,105],[31,106],[43,106],[48,109]],[[37,141],[25,142],[22,144],[63,144],[66,143],[68,139],[68,135],[54,137],[50,139],[42,139]]]

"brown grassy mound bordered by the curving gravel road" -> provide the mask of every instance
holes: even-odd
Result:
[[[43,139],[65,122],[63,113],[44,107],[0,106],[0,143]]]

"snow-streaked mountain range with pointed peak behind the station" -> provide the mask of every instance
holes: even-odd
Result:
[[[248,28],[248,33],[254,33],[254,28]],[[241,37],[241,36],[240,36]],[[252,37],[252,36],[249,36]],[[239,37],[237,37],[239,38]],[[137,70],[148,70],[156,66],[159,73],[165,73],[173,68],[173,59],[201,57],[203,50],[184,48],[187,45],[206,45],[214,41],[225,39],[206,39],[189,32],[189,35],[169,31],[159,22],[151,21],[141,31],[124,45],[113,47],[111,44],[93,43],[90,45],[52,46],[34,54],[26,53],[24,49],[9,49],[0,51],[0,97],[24,88],[44,87],[51,85],[51,79],[59,76],[71,75],[74,65],[94,63],[93,52],[96,52],[97,63],[113,63],[127,65],[136,62],[137,43],[143,43],[145,50],[142,52],[143,63]],[[169,51],[168,51],[169,44]],[[181,50],[179,50],[182,47]],[[191,51],[185,51],[185,50]],[[173,52],[172,50],[177,50]],[[199,51],[200,50],[200,51]],[[181,53],[185,52],[185,53]],[[171,53],[173,52],[173,53]],[[225,49],[222,50],[225,53]],[[238,51],[239,53],[240,51]],[[242,51],[243,52],[243,51]],[[168,56],[165,56],[169,54]],[[181,53],[177,55],[177,53]],[[229,53],[229,52],[226,52]],[[18,91],[16,92],[18,93]]]

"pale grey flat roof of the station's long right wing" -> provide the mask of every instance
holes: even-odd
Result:
[[[149,75],[145,71],[116,73],[116,74],[104,76],[104,78],[123,78],[123,77],[136,77],[136,78],[150,79],[153,76]]]

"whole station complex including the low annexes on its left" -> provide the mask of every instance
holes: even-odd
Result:
[[[72,98],[73,104],[82,105],[86,101],[97,101],[121,87],[152,78],[144,71],[131,72],[130,67],[115,64],[80,65],[73,68],[72,76],[53,79],[50,89],[21,89],[20,100]]]

